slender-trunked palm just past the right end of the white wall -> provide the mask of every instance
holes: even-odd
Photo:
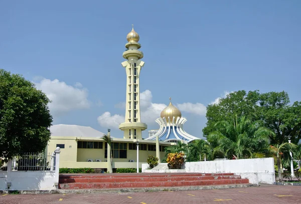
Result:
[[[283,154],[283,157],[285,158],[285,160],[290,162],[290,160],[292,158],[290,157],[289,152],[295,151],[296,148],[297,148],[297,145],[295,145],[294,143],[288,143],[288,142],[276,144],[271,148],[274,151],[274,153],[277,155],[277,167],[278,167],[279,181],[282,180],[281,167],[280,167],[280,163],[281,163],[280,154]]]

